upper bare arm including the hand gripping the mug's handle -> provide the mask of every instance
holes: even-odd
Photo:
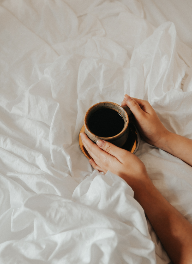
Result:
[[[135,116],[139,132],[151,145],[182,159],[192,166],[192,140],[169,132],[145,100],[124,96],[121,106],[128,105]]]

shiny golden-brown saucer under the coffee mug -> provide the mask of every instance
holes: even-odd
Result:
[[[130,122],[128,125],[128,129],[129,129],[129,135],[128,135],[128,139],[125,142],[125,144],[123,145],[123,147],[121,147],[122,149],[128,150],[131,153],[133,153],[137,147],[138,144],[138,136],[137,136],[137,130],[133,124],[133,122]],[[81,141],[81,136],[80,133],[85,133],[85,126],[83,125],[80,132],[79,132],[79,146],[81,148],[81,151],[83,152],[83,154],[88,158],[91,159],[91,156],[89,155],[89,153],[87,152],[86,148],[84,147],[82,141]]]

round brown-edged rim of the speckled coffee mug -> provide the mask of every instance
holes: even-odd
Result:
[[[111,107],[110,107],[110,106],[104,106],[104,107],[101,107],[102,105],[105,105],[105,104],[109,104],[109,105],[111,105]],[[124,113],[124,115],[125,115],[125,119],[124,119],[124,117],[122,116],[121,112],[116,111],[116,110],[112,107],[112,106],[114,106],[114,105],[115,105],[116,107],[118,107],[118,108],[121,110],[121,112]],[[92,111],[92,109],[95,108],[95,107],[98,107],[98,109],[95,109],[95,111]],[[118,113],[122,116],[122,118],[123,118],[123,120],[124,120],[124,122],[125,122],[123,129],[122,129],[118,134],[116,134],[115,136],[111,136],[111,137],[107,137],[107,138],[106,138],[106,137],[97,136],[97,135],[93,134],[93,133],[90,131],[90,129],[89,129],[89,126],[88,126],[88,120],[87,120],[88,115],[90,114],[90,112],[92,112],[92,114],[93,114],[94,112],[96,112],[97,110],[100,110],[100,109],[102,109],[102,108],[109,108],[109,109],[113,109],[114,111],[118,112]],[[117,103],[114,103],[114,102],[108,102],[108,101],[99,102],[99,103],[96,103],[95,105],[92,105],[92,106],[87,110],[87,112],[86,112],[86,114],[85,114],[85,117],[84,117],[84,126],[85,126],[85,129],[87,129],[88,132],[89,132],[93,137],[97,137],[97,138],[104,139],[104,140],[111,140],[111,139],[119,138],[119,136],[123,135],[123,134],[127,131],[128,124],[129,124],[129,116],[128,116],[127,112],[123,109],[123,107],[121,107],[121,106],[118,105]]]

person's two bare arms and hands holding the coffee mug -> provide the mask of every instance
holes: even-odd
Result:
[[[192,140],[169,132],[145,100],[124,96],[135,116],[142,137],[192,166]],[[81,133],[83,145],[93,159],[92,167],[108,170],[123,178],[133,189],[155,232],[174,264],[192,263],[192,225],[160,194],[151,182],[142,161],[127,150],[104,140],[93,143]]]

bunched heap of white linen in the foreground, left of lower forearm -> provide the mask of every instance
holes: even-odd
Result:
[[[71,199],[31,195],[1,218],[11,216],[11,230],[2,230],[1,262],[156,263],[144,211],[133,194],[118,176],[94,171]]]

